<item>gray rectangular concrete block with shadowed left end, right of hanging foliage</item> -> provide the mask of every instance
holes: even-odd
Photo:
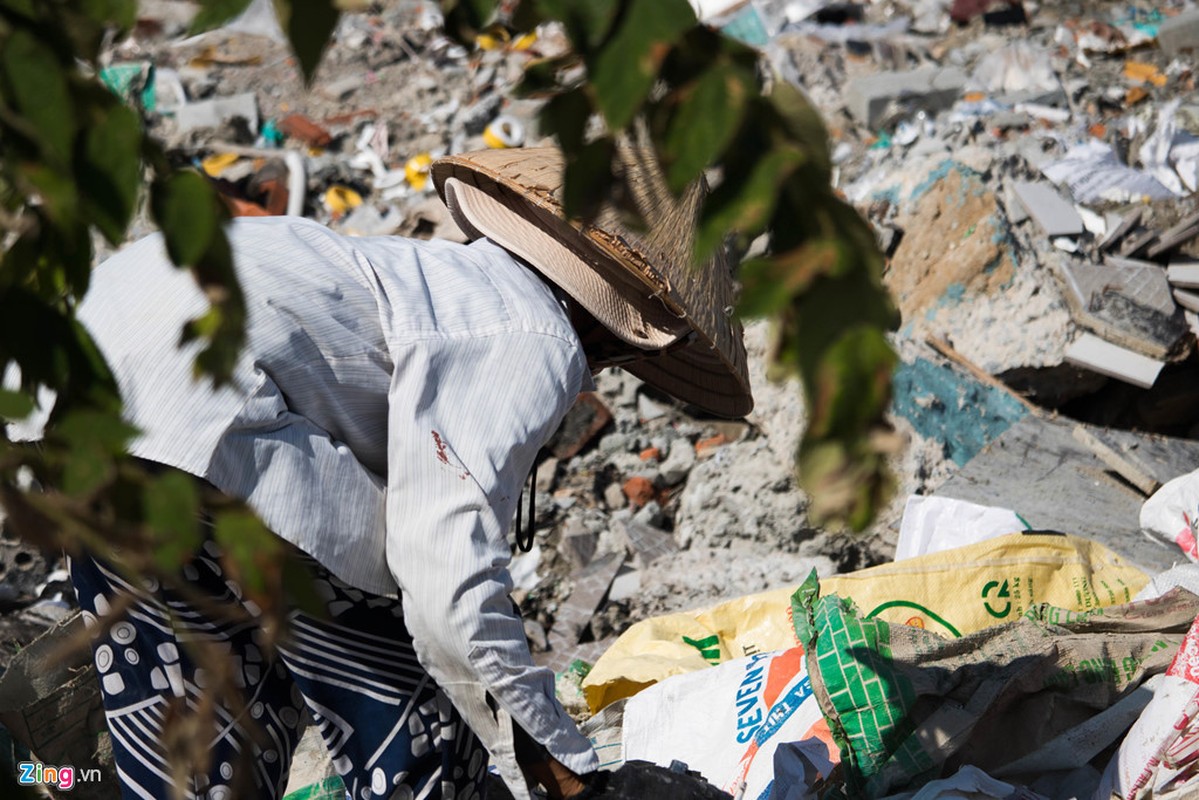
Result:
[[[965,83],[966,73],[956,67],[884,72],[850,80],[845,85],[845,107],[873,130],[893,106],[934,113],[950,108],[962,95]]]

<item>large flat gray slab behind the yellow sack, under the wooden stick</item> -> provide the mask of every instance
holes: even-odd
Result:
[[[1140,533],[1145,497],[1074,439],[1076,425],[1028,416],[936,494],[1012,509],[1035,529],[1086,536],[1150,572],[1183,561],[1180,551]],[[1199,441],[1084,427],[1161,482],[1199,463]]]

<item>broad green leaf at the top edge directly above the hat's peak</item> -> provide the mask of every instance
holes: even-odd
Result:
[[[687,0],[626,0],[611,37],[588,64],[609,130],[633,120],[670,47],[694,24]]]

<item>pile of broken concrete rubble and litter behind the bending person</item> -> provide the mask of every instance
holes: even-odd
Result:
[[[553,30],[468,52],[435,4],[375,2],[343,18],[306,90],[266,5],[188,38],[194,6],[143,0],[103,73],[239,213],[290,207],[356,235],[460,239],[423,179],[428,160],[542,142],[537,102],[508,90],[564,47]],[[1016,396],[1079,421],[1199,434],[1189,4],[698,5],[820,109],[837,187],[888,255],[908,439],[897,499],[863,536],[807,524],[793,475],[801,393],[765,378],[766,323],[748,325],[757,408],[745,421],[601,375],[538,470],[537,543],[513,561],[535,655],[559,672],[647,615],[887,560],[903,499],[976,452],[951,429],[978,447],[999,435],[990,411],[975,413],[978,386],[1018,408]],[[954,374],[992,383],[951,386],[946,402],[934,386],[946,354]]]

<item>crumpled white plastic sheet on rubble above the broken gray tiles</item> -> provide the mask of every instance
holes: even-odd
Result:
[[[1175,197],[1153,175],[1125,164],[1110,145],[1092,139],[1041,167],[1054,184],[1065,186],[1079,203],[1131,203]]]

